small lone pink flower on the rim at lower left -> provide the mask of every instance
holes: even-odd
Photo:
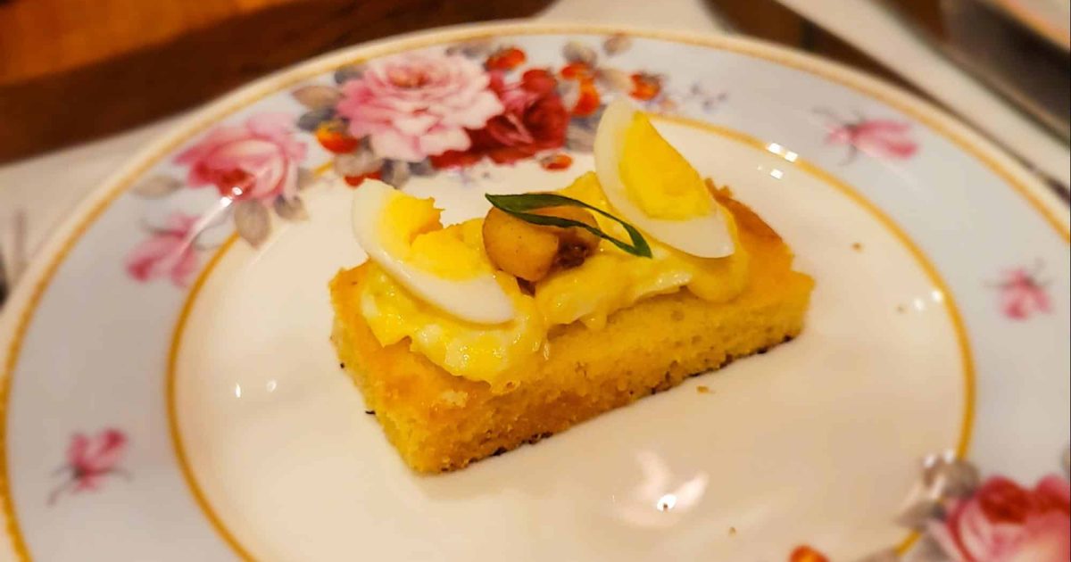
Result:
[[[59,473],[69,473],[67,480],[48,495],[48,504],[64,492],[77,493],[100,488],[101,482],[110,474],[130,479],[130,474],[117,467],[126,450],[126,435],[119,429],[104,429],[93,437],[75,434],[67,446],[66,464]]]

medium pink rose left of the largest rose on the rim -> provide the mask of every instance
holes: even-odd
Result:
[[[305,158],[305,143],[293,135],[293,118],[261,113],[241,125],[222,125],[176,158],[190,166],[186,183],[212,185],[220,195],[237,201],[273,202],[297,195],[298,163]]]

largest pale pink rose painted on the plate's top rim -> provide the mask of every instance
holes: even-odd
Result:
[[[408,52],[369,62],[342,86],[338,115],[355,138],[367,136],[379,157],[421,162],[467,150],[466,128],[503,111],[484,69],[461,55]]]

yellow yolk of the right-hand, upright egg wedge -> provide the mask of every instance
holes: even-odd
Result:
[[[682,221],[713,209],[699,172],[640,111],[633,115],[619,155],[619,173],[633,203],[652,218]]]

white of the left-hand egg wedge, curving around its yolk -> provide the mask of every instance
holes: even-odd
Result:
[[[469,322],[498,324],[515,316],[513,303],[494,274],[482,273],[468,279],[443,279],[407,263],[403,256],[388,252],[379,228],[387,203],[401,194],[378,181],[365,180],[353,194],[353,236],[368,259],[382,268],[421,300]]]

